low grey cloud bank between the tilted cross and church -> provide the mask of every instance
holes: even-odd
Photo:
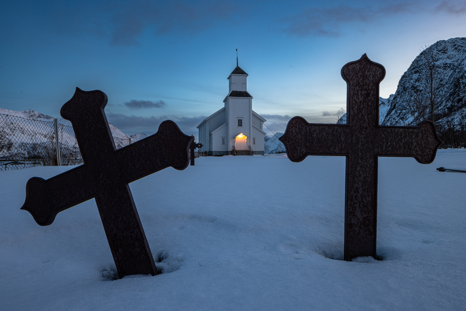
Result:
[[[121,113],[107,113],[107,119],[113,125],[115,125],[119,130],[125,133],[135,133],[144,131],[146,134],[150,135],[155,133],[158,130],[160,123],[165,120],[172,120],[178,124],[181,131],[187,135],[198,133],[196,126],[206,118],[206,116],[198,117],[137,117],[137,116],[125,116]]]

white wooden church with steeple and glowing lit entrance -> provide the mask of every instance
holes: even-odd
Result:
[[[225,106],[206,117],[197,128],[202,155],[264,155],[264,122],[253,111],[253,97],[247,92],[248,74],[238,66],[228,76]]]

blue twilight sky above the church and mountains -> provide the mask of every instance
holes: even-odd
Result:
[[[123,132],[172,119],[197,136],[238,48],[254,111],[282,132],[296,115],[334,123],[340,69],[364,53],[387,71],[380,95],[394,93],[421,47],[466,36],[466,1],[2,0],[0,29],[1,108],[59,117],[77,86],[104,91]]]

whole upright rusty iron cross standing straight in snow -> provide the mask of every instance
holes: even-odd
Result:
[[[300,162],[308,155],[346,156],[345,260],[358,256],[376,258],[378,157],[413,157],[429,164],[442,141],[435,126],[381,126],[379,83],[385,76],[382,65],[367,55],[342,68],[347,83],[347,124],[309,124],[292,118],[279,138],[288,158]]]

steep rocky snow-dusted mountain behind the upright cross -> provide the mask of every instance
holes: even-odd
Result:
[[[423,50],[398,82],[397,91],[389,98],[380,97],[379,115],[382,125],[414,125],[409,106],[416,96],[426,95],[429,85],[426,76],[429,68],[426,55],[435,63],[434,93],[438,113],[442,117],[454,116],[466,107],[466,38],[437,41]],[[338,120],[346,123],[346,114]]]

